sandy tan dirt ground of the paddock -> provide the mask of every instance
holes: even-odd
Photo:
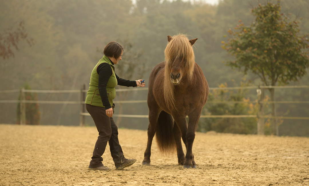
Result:
[[[126,158],[137,162],[116,171],[87,169],[98,133],[95,127],[0,125],[0,186],[7,185],[309,185],[309,138],[196,133],[197,169],[177,165],[154,140],[151,165],[142,165],[147,132],[119,129]]]

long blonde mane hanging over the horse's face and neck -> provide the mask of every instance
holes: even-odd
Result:
[[[164,99],[168,107],[175,108],[174,85],[171,83],[171,66],[176,59],[184,62],[184,70],[187,71],[188,82],[191,82],[195,64],[195,57],[191,43],[184,34],[173,36],[164,50],[165,72],[164,72]],[[183,77],[185,79],[185,77]],[[177,108],[176,108],[177,109]]]

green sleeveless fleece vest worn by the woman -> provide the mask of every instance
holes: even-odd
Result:
[[[89,90],[87,91],[87,96],[86,96],[86,101],[85,101],[86,104],[90,104],[90,105],[98,106],[98,107],[104,107],[102,104],[100,93],[99,93],[99,88],[98,88],[99,74],[97,73],[97,68],[102,63],[108,63],[112,68],[112,75],[111,77],[109,77],[107,85],[106,85],[108,101],[111,104],[111,106],[113,104],[113,99],[116,97],[115,87],[118,83],[116,75],[115,75],[115,67],[112,65],[108,57],[104,55],[91,72]]]

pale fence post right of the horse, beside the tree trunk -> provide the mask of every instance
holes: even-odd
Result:
[[[257,110],[257,134],[264,135],[264,88],[256,90],[258,96],[258,110]]]

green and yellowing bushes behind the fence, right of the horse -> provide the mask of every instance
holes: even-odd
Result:
[[[247,87],[250,82],[240,82],[241,87]],[[237,87],[235,83],[234,86]],[[227,87],[226,83],[219,87]],[[226,89],[214,89],[210,92],[207,103],[204,107],[205,115],[256,115],[257,105],[250,102],[248,89],[237,91]],[[229,101],[238,103],[228,103]],[[256,133],[256,118],[208,118],[199,123],[200,131],[214,130],[224,133]]]

